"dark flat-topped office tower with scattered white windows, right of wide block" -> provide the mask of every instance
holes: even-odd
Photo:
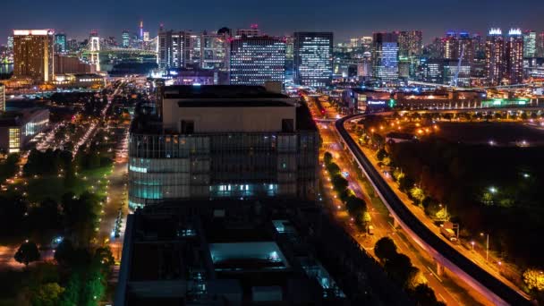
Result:
[[[325,87],[333,75],[333,33],[295,32],[293,35],[294,82]]]

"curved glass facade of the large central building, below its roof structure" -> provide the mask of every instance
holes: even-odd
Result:
[[[131,134],[129,204],[316,192],[316,132]]]

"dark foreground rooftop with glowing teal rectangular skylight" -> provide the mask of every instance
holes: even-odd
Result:
[[[261,204],[258,212],[256,207]],[[317,279],[293,268],[291,261],[309,268],[320,265],[309,264],[309,249],[304,249],[301,257],[298,253],[293,257],[293,251],[284,254],[290,247],[278,235],[287,233],[285,226],[293,225],[282,213],[278,219],[272,217],[278,207],[265,209],[272,204],[278,203],[185,201],[183,205],[170,202],[138,210],[129,217],[123,247],[123,263],[128,265],[122,264],[122,269],[128,267],[128,271],[124,269],[121,277],[126,273],[130,283],[124,283],[125,301],[183,301],[191,298],[186,289],[199,281],[206,284],[201,299],[207,294],[226,294],[247,304],[271,293],[285,302],[288,296],[301,296],[302,290],[310,293],[303,294],[308,302],[319,301],[322,288]],[[303,207],[303,203],[296,204]],[[282,230],[278,225],[284,226]],[[301,243],[296,244],[302,248]],[[166,291],[169,293],[161,294]]]

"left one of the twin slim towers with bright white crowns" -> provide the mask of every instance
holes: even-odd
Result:
[[[502,30],[489,30],[486,39],[486,80],[491,86],[502,81],[505,72],[505,38]]]

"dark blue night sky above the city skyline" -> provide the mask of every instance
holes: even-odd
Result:
[[[485,33],[489,27],[544,30],[544,0],[2,0],[0,43],[13,29],[55,29],[69,38],[138,30],[247,28],[268,34],[332,30],[336,42],[378,30],[423,30],[425,41],[446,30]],[[503,30],[503,31],[504,31]]]

